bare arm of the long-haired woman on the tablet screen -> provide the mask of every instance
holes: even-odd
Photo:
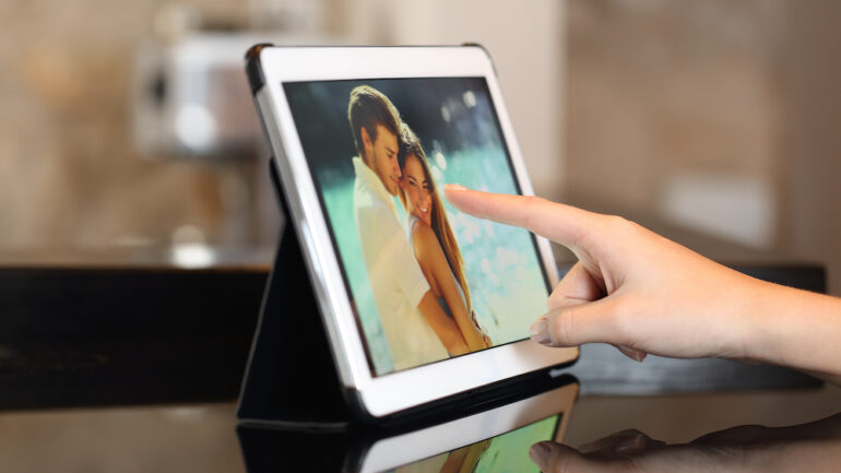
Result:
[[[487,348],[485,338],[482,336],[470,314],[467,314],[467,306],[461,297],[459,283],[452,276],[447,257],[443,255],[435,232],[427,225],[415,225],[414,243],[415,256],[424,275],[427,280],[434,279],[437,283],[470,351]]]

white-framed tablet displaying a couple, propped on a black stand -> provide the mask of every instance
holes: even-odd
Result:
[[[341,382],[364,413],[576,359],[524,340],[557,283],[547,241],[442,197],[445,184],[532,193],[483,49],[254,47],[248,71]]]

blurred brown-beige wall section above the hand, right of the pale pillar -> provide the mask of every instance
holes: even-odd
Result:
[[[567,197],[777,248],[782,7],[569,1]]]

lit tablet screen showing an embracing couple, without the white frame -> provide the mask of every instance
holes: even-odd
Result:
[[[548,297],[534,237],[443,198],[521,193],[485,79],[283,88],[372,376],[528,338]]]

